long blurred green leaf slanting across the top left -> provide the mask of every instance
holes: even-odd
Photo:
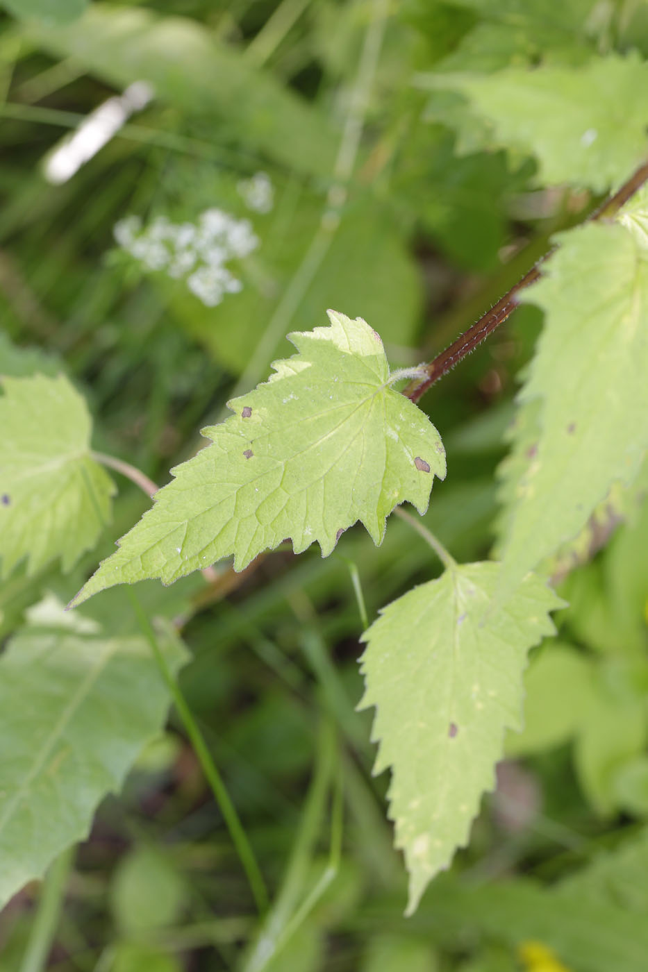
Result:
[[[319,176],[333,172],[335,131],[317,109],[196,20],[94,3],[66,27],[26,23],[23,30],[46,50],[74,58],[113,85],[147,81],[159,98],[184,113],[220,116],[225,124],[219,125],[219,139],[240,136],[248,154],[268,154]]]

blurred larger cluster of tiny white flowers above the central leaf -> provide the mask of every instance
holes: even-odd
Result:
[[[171,223],[159,216],[146,228],[139,217],[127,216],[113,232],[120,246],[148,270],[184,277],[189,290],[207,307],[242,289],[225,264],[247,257],[259,246],[248,220],[235,220],[221,209],[206,209],[198,223]]]

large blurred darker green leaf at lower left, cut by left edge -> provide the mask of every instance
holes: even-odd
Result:
[[[86,837],[168,707],[145,639],[108,638],[54,599],[31,621],[0,658],[0,907]],[[161,641],[177,671],[184,648],[171,633]]]

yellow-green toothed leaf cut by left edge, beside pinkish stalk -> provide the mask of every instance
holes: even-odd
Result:
[[[112,479],[90,458],[90,415],[67,378],[4,378],[0,397],[1,575],[61,558],[68,571],[110,519]]]

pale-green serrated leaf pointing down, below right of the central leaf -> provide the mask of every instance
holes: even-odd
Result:
[[[548,612],[562,605],[528,574],[494,608],[498,572],[495,563],[451,568],[383,608],[363,635],[360,708],[377,710],[374,772],[392,770],[389,816],[410,872],[408,915],[467,842],[504,730],[521,727],[527,650],[554,633]]]

